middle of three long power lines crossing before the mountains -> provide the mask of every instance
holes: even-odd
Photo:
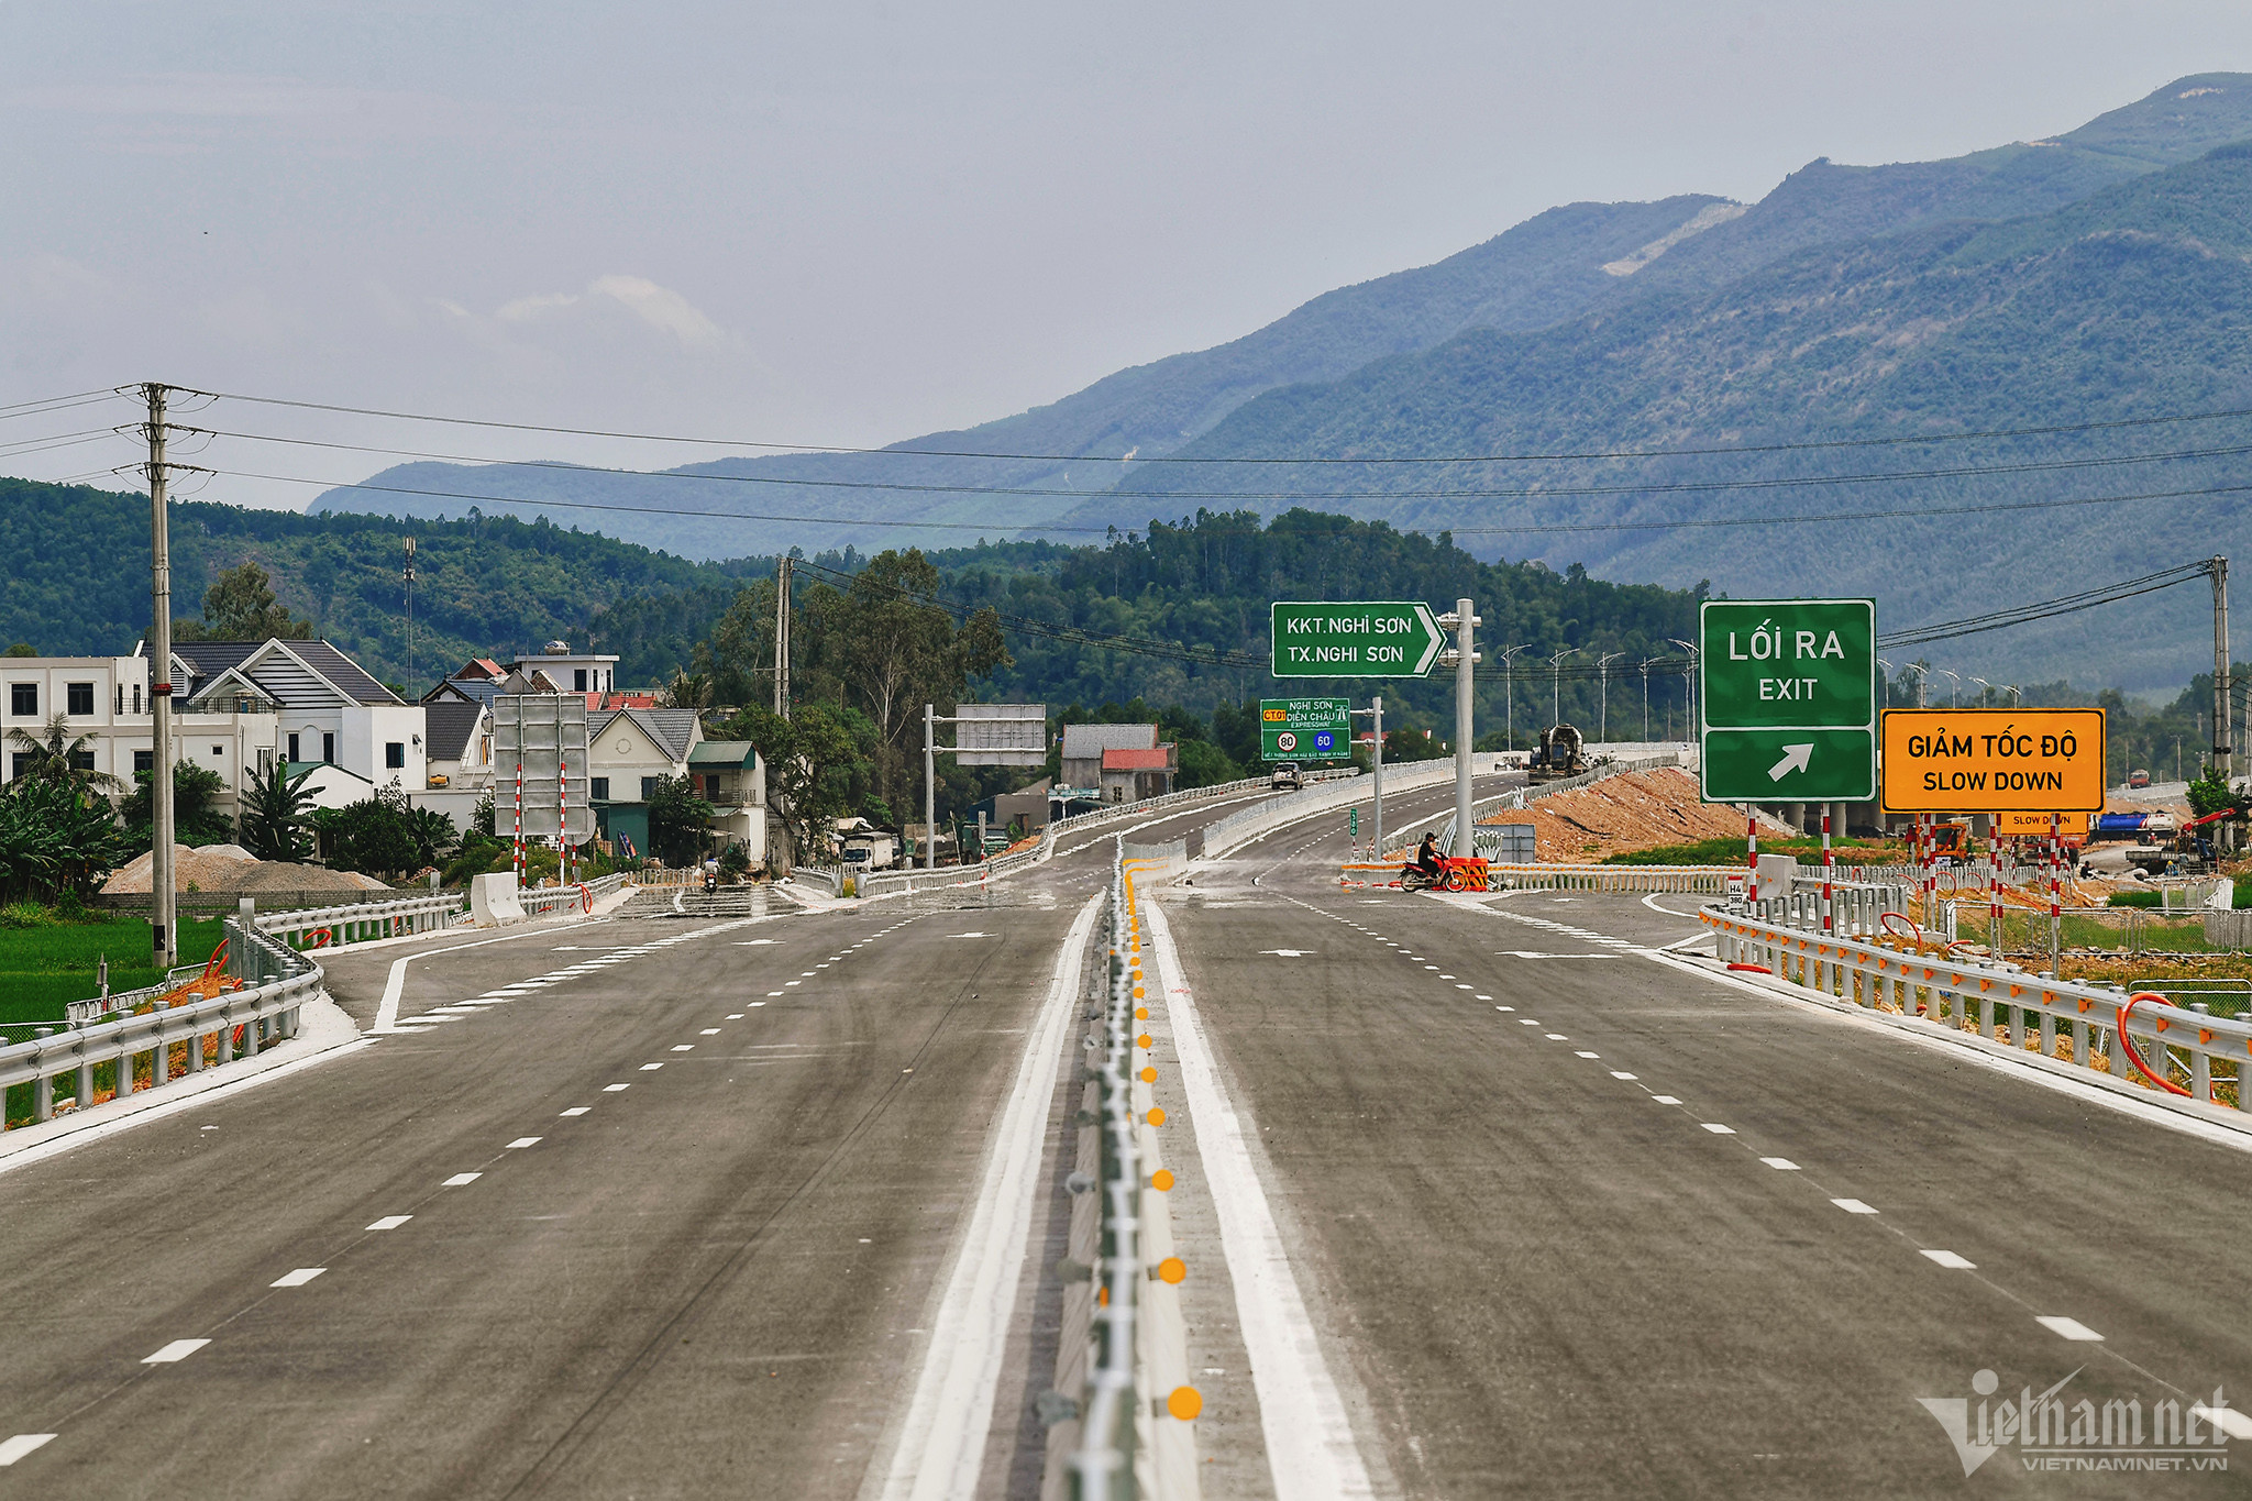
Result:
[[[899,491],[910,495],[1000,495],[1034,500],[1547,500],[1558,495],[1696,495],[1723,491],[1788,491],[1829,484],[1894,484],[1905,479],[1984,479],[1991,475],[2036,475],[2079,468],[2119,468],[2126,464],[2171,464],[2178,459],[2234,459],[2252,452],[2252,443],[2225,448],[2182,448],[2151,455],[2103,455],[2088,459],[2027,459],[2018,464],[1966,464],[1955,468],[1878,470],[1862,475],[1781,475],[1770,479],[1669,479],[1657,484],[1583,484],[1583,486],[1531,486],[1531,488],[1457,488],[1457,491],[1079,491],[1056,486],[993,486],[993,484],[905,484],[890,479],[793,479],[784,475],[691,475],[682,470],[613,468],[604,464],[565,464],[561,459],[491,459],[484,455],[450,455],[414,448],[381,448],[374,443],[333,443],[324,439],[291,439],[266,432],[230,432],[221,428],[182,428],[209,439],[241,439],[245,443],[282,443],[291,448],[333,448],[340,452],[367,452],[394,459],[437,459],[446,464],[493,464],[509,468],[554,468],[581,475],[631,475],[635,479],[687,479],[696,484],[772,484],[804,486],[820,491]]]

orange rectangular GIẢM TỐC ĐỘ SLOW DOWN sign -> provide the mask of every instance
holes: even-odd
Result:
[[[1880,738],[1889,812],[2103,812],[2101,709],[1885,709]]]

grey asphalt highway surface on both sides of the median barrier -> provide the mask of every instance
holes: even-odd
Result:
[[[874,1494],[1112,846],[340,954],[372,1046],[0,1172],[0,1460],[54,1433],[0,1496]],[[1160,1071],[1200,1017],[1243,1127],[1241,1170],[1209,1107],[1169,1136],[1207,1496],[1311,1494],[1322,1447],[1403,1496],[2243,1492],[1966,1478],[1921,1402],[2236,1393],[2243,1152],[1698,972],[1657,952],[1689,898],[1349,889],[1344,853],[1320,815],[1160,898]],[[1067,1094],[982,1496],[1038,1487]],[[1254,1368],[1250,1202],[1335,1409]]]

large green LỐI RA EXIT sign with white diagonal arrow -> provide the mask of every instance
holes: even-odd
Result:
[[[1876,797],[1876,603],[1709,599],[1700,614],[1709,803]]]

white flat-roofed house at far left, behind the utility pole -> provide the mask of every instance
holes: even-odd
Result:
[[[194,666],[173,653],[173,684],[185,693]],[[0,729],[45,738],[47,720],[63,713],[72,738],[88,736],[81,754],[90,772],[133,785],[135,772],[155,765],[149,709],[149,659],[133,657],[0,657]],[[173,700],[171,763],[200,765],[218,776],[216,808],[241,810],[243,783],[272,765],[279,720],[263,691],[189,702]],[[29,752],[0,747],[0,785],[23,774]]]

